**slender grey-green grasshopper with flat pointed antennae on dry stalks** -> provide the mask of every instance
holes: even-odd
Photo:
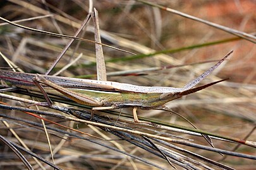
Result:
[[[233,52],[233,51],[232,51]],[[135,86],[111,81],[95,81],[70,77],[44,76],[0,70],[0,79],[11,82],[18,88],[40,91],[35,84],[40,83],[49,94],[64,95],[77,103],[92,106],[93,110],[110,110],[116,108],[133,108],[135,122],[137,108],[142,110],[161,109],[164,104],[187,94],[195,93],[220,81],[211,82],[193,88],[214,71],[232,52],[210,67],[203,74],[188,82],[183,88]],[[36,82],[36,83],[35,83]],[[41,89],[42,91],[42,89]]]

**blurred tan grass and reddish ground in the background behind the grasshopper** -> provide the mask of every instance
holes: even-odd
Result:
[[[245,33],[256,32],[256,1],[253,0],[161,0],[150,2]],[[41,18],[22,21],[18,24],[73,36],[82,21],[85,20],[89,4],[89,1],[80,0],[1,1],[0,16],[10,21],[41,16]],[[234,50],[231,57],[220,66],[220,69],[214,71],[202,84],[226,77],[231,79],[185,98],[172,101],[167,106],[188,118],[202,130],[239,139],[248,137],[247,140],[256,140],[256,134],[252,131],[255,128],[256,120],[255,43],[138,1],[102,0],[93,1],[93,5],[99,11],[102,43],[137,54],[131,55],[103,47],[106,69],[109,74],[107,80],[109,81],[126,82],[140,86],[181,88],[211,65],[214,65],[216,60],[222,59],[224,55]],[[86,26],[86,30],[82,34],[78,37],[94,40],[92,21]],[[44,74],[67,42],[68,39],[65,38],[52,37],[15,26],[0,24],[0,51],[25,72]],[[66,71],[61,72],[60,76],[97,79],[95,76],[95,45],[94,43],[78,41],[72,43],[63,59],[51,72],[51,75],[78,56],[80,56],[80,59],[74,62]],[[3,59],[0,60],[1,67],[8,67]],[[215,61],[212,62],[212,60]],[[168,69],[164,69],[166,67]],[[149,69],[153,69],[153,71],[149,71]],[[125,72],[120,73],[119,71]],[[13,101],[8,102],[9,105],[19,105]],[[131,114],[130,109],[122,111]],[[22,116],[19,113],[12,114]],[[138,115],[190,127],[187,122],[178,116],[169,115],[164,111],[139,111]],[[39,120],[35,121],[40,122]],[[70,122],[64,123],[68,124]],[[16,126],[18,127],[18,125]],[[13,139],[13,136],[3,124],[1,128],[3,128],[1,135]],[[28,129],[25,127],[17,128],[17,132],[27,141],[29,147],[34,149],[34,152],[42,156],[48,156],[49,148],[44,132]],[[94,135],[96,133],[88,127],[81,127],[80,130],[88,131],[87,133]],[[207,145],[202,137],[175,134],[194,139],[199,144]],[[106,135],[109,135],[111,139],[116,139],[114,135],[109,133],[106,133]],[[52,135],[51,140],[54,147],[58,145],[61,139]],[[137,156],[162,164],[166,168],[169,167],[166,160],[151,156],[147,151],[138,149],[135,145],[128,144],[125,141],[118,141],[118,143],[126,149],[126,152],[133,152]],[[80,145],[78,146],[78,144]],[[217,148],[226,150],[232,150],[236,147],[236,144],[219,140],[214,140],[214,144]],[[222,159],[222,156],[218,153],[192,147],[184,148],[214,161]],[[0,168],[15,169],[16,167],[9,166],[9,164],[18,159],[3,143],[0,149],[2,156]],[[236,152],[255,155],[255,149],[243,145],[238,147]],[[102,149],[97,145],[88,145],[78,139],[68,139],[59,149],[56,159],[63,156],[74,156],[74,160],[67,159],[66,162],[60,162],[59,167],[63,169],[111,169],[111,167],[116,169],[148,169],[150,167],[138,161],[135,161],[137,166],[131,166],[130,162],[120,163],[123,157],[111,159],[111,157],[88,156],[87,160],[83,162],[84,159],[78,158],[80,154],[117,156],[118,152]],[[256,168],[255,161],[241,157],[228,156],[221,163],[235,169]],[[20,169],[24,168],[21,166],[21,161],[16,162],[16,165],[20,166]]]

